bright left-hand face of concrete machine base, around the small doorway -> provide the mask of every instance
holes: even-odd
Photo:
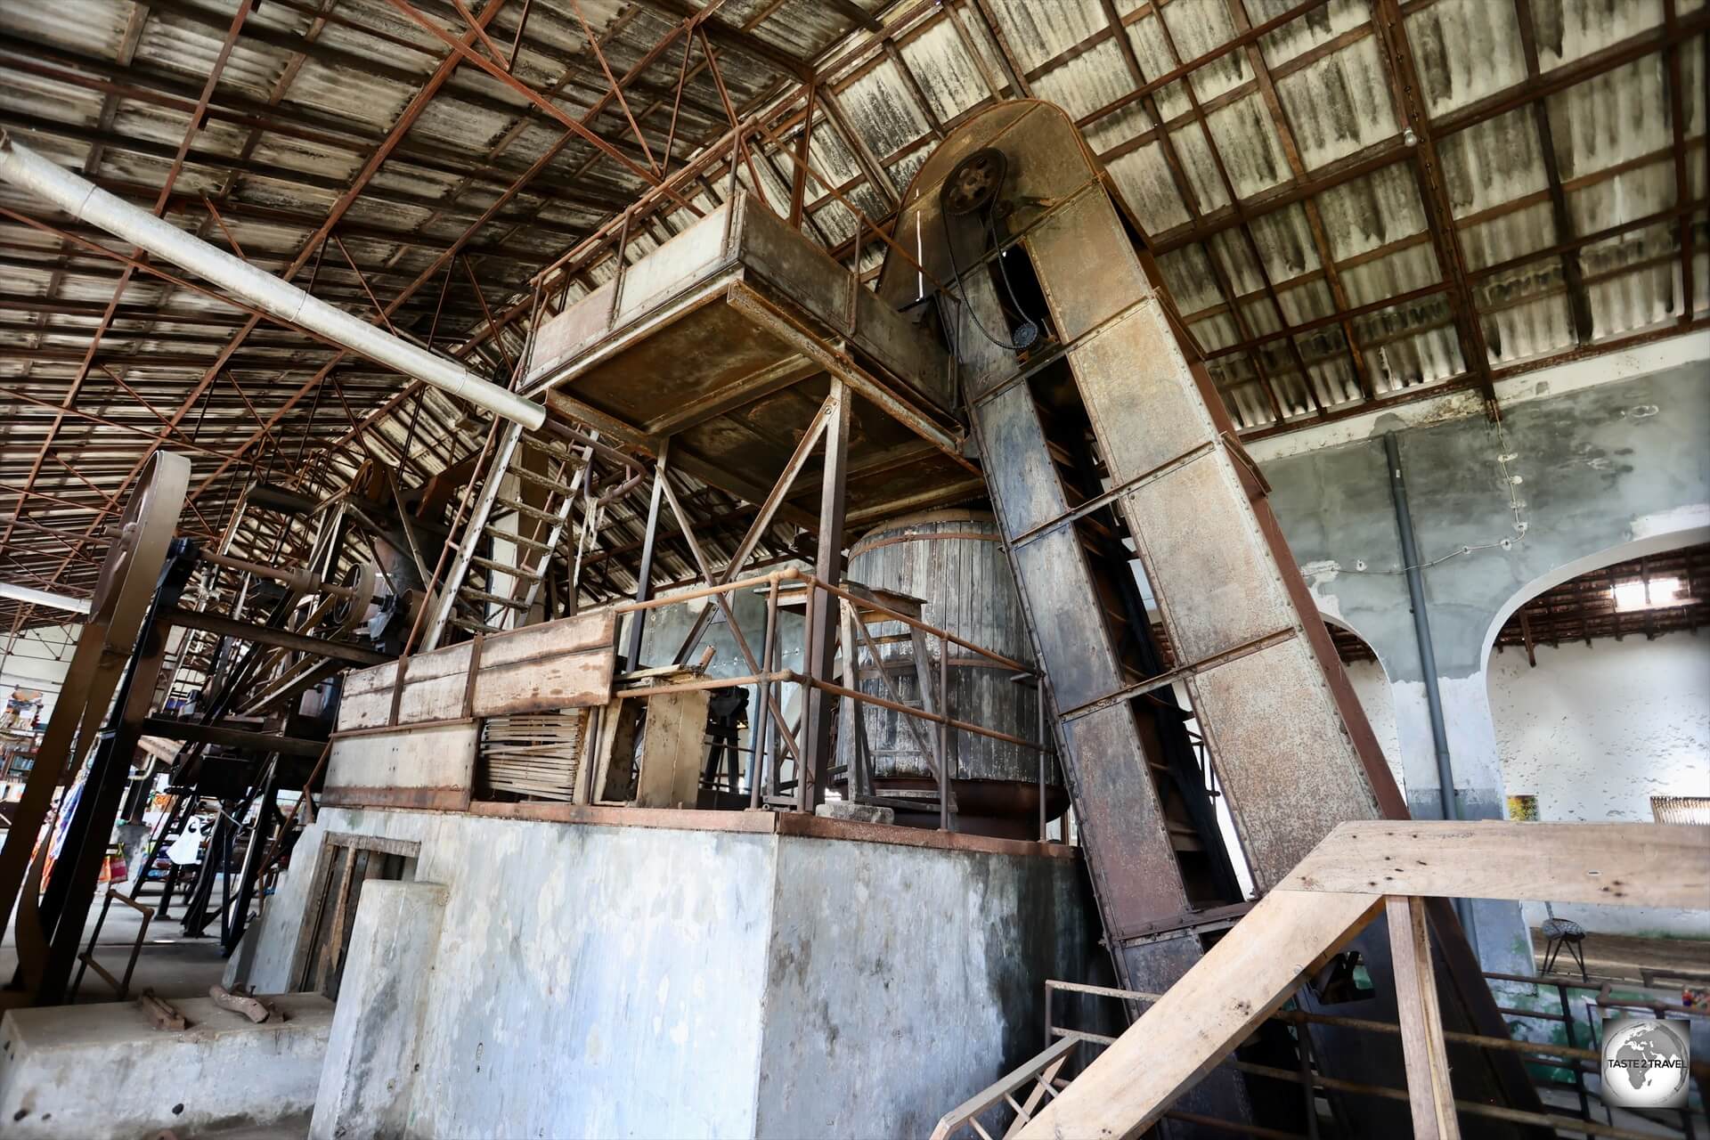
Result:
[[[416,841],[450,889],[409,1135],[752,1135],[768,837],[330,808],[262,920],[263,991],[327,831]]]

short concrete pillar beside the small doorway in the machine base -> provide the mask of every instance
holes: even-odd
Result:
[[[363,887],[315,1097],[313,1140],[409,1135],[410,1073],[448,894],[431,882]]]

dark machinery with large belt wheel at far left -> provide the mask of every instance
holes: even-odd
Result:
[[[159,916],[185,885],[186,933],[217,920],[222,947],[234,949],[289,843],[279,793],[306,795],[321,778],[337,673],[390,660],[373,648],[388,607],[380,571],[356,552],[357,533],[376,549],[349,518],[359,506],[255,484],[205,549],[173,537],[186,484],[188,463],[157,453],[132,494],[0,849],[0,897],[15,911],[19,945],[0,1003],[65,998],[87,962],[79,943],[108,836],[116,820],[142,824],[159,776],[171,805],[140,851],[145,865],[197,814],[214,820],[195,880],[169,877]],[[280,516],[270,564],[229,554],[256,511]],[[38,844],[50,819],[53,841]],[[145,880],[135,877],[132,899]]]

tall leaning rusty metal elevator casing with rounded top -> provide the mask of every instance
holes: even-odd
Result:
[[[1269,890],[1337,824],[1406,819],[1406,805],[1264,475],[1185,356],[1139,229],[1064,111],[1009,103],[964,123],[917,171],[896,232],[920,261],[893,253],[879,296],[958,359],[1118,976],[1166,990],[1241,904],[1229,860]],[[946,284],[929,291],[929,275]],[[1137,620],[1130,574],[1156,600],[1173,668]],[[1209,745],[1238,851],[1207,827],[1204,784],[1171,747],[1185,716]],[[1454,911],[1431,908],[1445,1024],[1501,1032]],[[1301,1000],[1387,1020],[1390,971],[1377,923]],[[1312,1037],[1324,1072],[1400,1070],[1399,1048],[1324,1025]],[[1536,1108],[1517,1063],[1469,1049],[1457,1073],[1474,1096]],[[1190,1099],[1253,1119],[1255,1096],[1228,1073]],[[1356,1135],[1407,1126],[1404,1109],[1370,1099],[1346,1097],[1337,1116]]]

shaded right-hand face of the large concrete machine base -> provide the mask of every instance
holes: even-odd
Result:
[[[925,1137],[1098,952],[1062,860],[783,837],[778,865],[756,1137]]]

